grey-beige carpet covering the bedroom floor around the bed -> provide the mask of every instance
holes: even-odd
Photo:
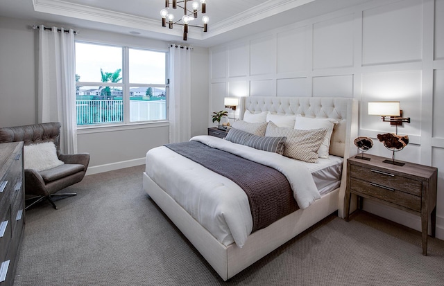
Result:
[[[331,215],[224,283],[142,190],[143,166],[90,175],[26,211],[14,285],[444,285],[444,241]]]

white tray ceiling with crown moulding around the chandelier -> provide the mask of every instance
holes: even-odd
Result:
[[[179,0],[180,1],[180,0]],[[189,28],[188,43],[214,46],[373,0],[207,0],[208,32]],[[162,27],[164,0],[1,0],[0,16],[182,42],[182,27]],[[172,9],[171,9],[172,10]],[[179,19],[181,10],[176,10]],[[199,19],[200,21],[200,13]]]

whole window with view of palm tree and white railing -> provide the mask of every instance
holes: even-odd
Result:
[[[166,66],[165,52],[76,42],[77,125],[166,120]]]

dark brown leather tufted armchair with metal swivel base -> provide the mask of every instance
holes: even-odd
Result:
[[[56,145],[58,159],[65,164],[37,172],[33,169],[25,169],[25,194],[33,199],[26,206],[30,208],[37,202],[47,199],[57,209],[53,197],[71,197],[76,193],[56,194],[59,190],[67,188],[82,181],[89,165],[89,154],[61,154],[60,153],[60,123],[41,123],[17,127],[1,127],[0,143],[24,141],[24,145],[44,143],[52,141]]]

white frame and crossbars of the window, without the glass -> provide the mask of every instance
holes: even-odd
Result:
[[[121,82],[83,82],[76,81],[76,87],[85,87],[85,86],[106,86],[106,87],[121,87],[122,89],[122,101],[123,101],[123,120],[121,122],[114,123],[94,123],[94,124],[85,124],[85,125],[77,125],[77,129],[119,129],[119,127],[130,127],[131,125],[135,125],[137,128],[139,125],[154,125],[158,126],[167,126],[169,124],[169,52],[156,50],[154,48],[146,48],[140,46],[131,46],[124,44],[108,44],[104,42],[93,42],[93,41],[85,41],[85,40],[76,40],[75,43],[83,43],[83,44],[93,44],[96,46],[111,46],[121,48],[122,51],[122,80]],[[129,64],[129,53],[130,49],[136,49],[141,51],[151,51],[156,53],[164,53],[165,54],[165,83],[164,84],[142,84],[142,83],[130,83],[129,82],[129,73],[130,73],[130,64]],[[75,59],[74,59],[75,60]],[[166,95],[166,118],[158,119],[158,120],[141,120],[141,121],[130,121],[130,88],[131,87],[158,87],[165,89]],[[76,96],[76,94],[74,94]],[[77,116],[77,114],[76,114]],[[153,127],[154,127],[153,126]],[[131,128],[132,129],[132,128]]]

